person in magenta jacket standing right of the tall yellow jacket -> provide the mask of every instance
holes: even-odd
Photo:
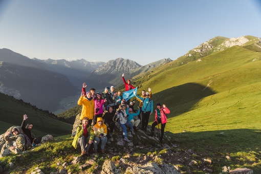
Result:
[[[106,103],[106,98],[101,98],[101,94],[98,92],[96,93],[96,97],[94,99],[94,105],[95,105],[95,115],[93,116],[93,125],[97,123],[97,118],[102,117],[103,114],[103,104]]]

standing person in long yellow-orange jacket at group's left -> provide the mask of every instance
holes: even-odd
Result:
[[[94,100],[91,95],[92,94],[90,92],[87,92],[85,95],[82,91],[78,100],[78,105],[82,105],[80,120],[82,120],[83,117],[87,117],[90,125],[92,123],[93,116],[95,115]]]

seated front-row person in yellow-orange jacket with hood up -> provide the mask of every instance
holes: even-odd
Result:
[[[101,142],[101,153],[105,153],[105,144],[107,143],[107,126],[103,124],[101,117],[97,118],[97,123],[93,126],[94,129],[94,153],[98,153],[98,144]]]

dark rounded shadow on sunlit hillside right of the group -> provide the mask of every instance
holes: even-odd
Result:
[[[177,116],[188,111],[204,97],[216,94],[210,88],[198,83],[186,83],[153,94],[154,108],[157,103],[166,104],[171,111],[168,117]]]

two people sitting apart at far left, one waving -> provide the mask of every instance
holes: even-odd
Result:
[[[11,131],[8,131],[4,135],[6,143],[1,149],[1,154],[5,149],[9,149],[12,153],[17,154],[27,150],[36,140],[34,134],[31,133],[33,128],[32,123],[26,125],[28,116],[25,114],[23,122],[21,123],[21,131],[19,132],[17,127],[13,127]],[[15,143],[14,143],[15,142]]]

